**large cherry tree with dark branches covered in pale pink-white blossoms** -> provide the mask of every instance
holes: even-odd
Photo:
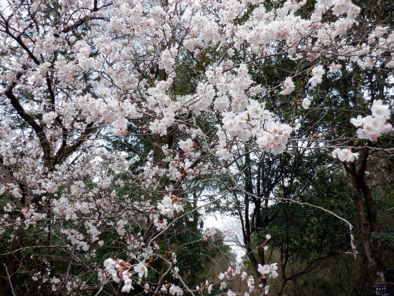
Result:
[[[393,150],[379,146],[392,132],[391,90],[376,98],[354,90],[340,122],[312,115],[338,110],[316,94],[324,83],[341,92],[335,79],[344,72],[393,79],[394,33],[363,19],[350,0],[312,6],[2,1],[1,293],[15,295],[26,282],[48,295],[268,294],[278,276],[277,264],[264,260],[269,235],[255,274],[234,265],[196,287],[177,256],[187,244],[213,241],[217,229],[183,244],[178,230],[237,194],[256,204],[297,202],[258,194],[245,172],[270,155],[316,150],[352,178],[368,265],[385,283],[380,247],[370,244],[376,209],[364,173],[371,152]],[[131,153],[107,149],[108,139]],[[347,225],[348,253],[358,252],[346,217],[305,205]],[[244,291],[231,291],[237,278]]]

